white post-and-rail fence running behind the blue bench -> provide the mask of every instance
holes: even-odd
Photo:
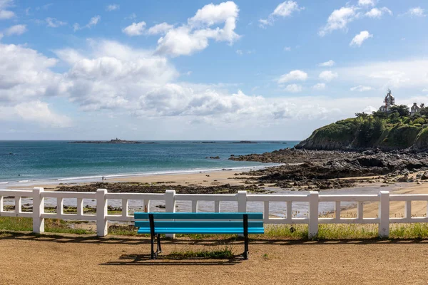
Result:
[[[14,211],[4,210],[4,197],[14,197]],[[22,198],[31,197],[33,212],[22,212]],[[46,213],[45,199],[56,198],[56,213]],[[77,201],[77,214],[64,214],[63,199],[75,198]],[[83,199],[96,200],[96,214],[83,214]],[[107,200],[121,199],[121,214],[108,214]],[[309,237],[315,237],[318,232],[318,224],[379,224],[379,237],[389,236],[389,223],[416,223],[428,222],[427,217],[412,217],[412,202],[424,201],[428,203],[428,195],[390,195],[387,191],[380,191],[377,195],[320,195],[318,192],[297,195],[259,195],[248,194],[240,191],[237,194],[228,195],[200,195],[200,194],[175,194],[174,190],[166,190],[162,194],[140,193],[108,193],[106,189],[98,189],[96,192],[59,192],[44,191],[36,187],[32,191],[24,190],[0,190],[0,217],[31,217],[33,219],[33,232],[44,232],[44,219],[76,219],[81,221],[96,221],[97,234],[104,237],[107,234],[108,221],[131,222],[133,216],[128,214],[129,200],[142,200],[143,209],[150,209],[153,200],[165,202],[165,212],[175,212],[175,202],[190,201],[192,212],[198,212],[198,202],[214,202],[214,211],[220,212],[220,202],[237,202],[238,212],[247,211],[248,202],[263,202],[265,224],[308,224]],[[404,217],[389,217],[389,202],[405,202]],[[270,217],[270,202],[285,202],[285,218]],[[309,211],[306,217],[292,217],[292,203],[307,202]],[[319,217],[320,202],[334,202],[335,216],[331,218]],[[341,202],[357,202],[357,217],[344,218],[340,215]],[[379,214],[377,217],[363,217],[363,203],[379,202]],[[428,208],[428,207],[427,207]]]

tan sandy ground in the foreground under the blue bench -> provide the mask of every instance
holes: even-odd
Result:
[[[242,242],[175,239],[173,250]],[[250,259],[148,259],[148,239],[0,235],[0,284],[427,284],[428,241],[250,242]]]

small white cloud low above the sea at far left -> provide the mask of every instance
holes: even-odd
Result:
[[[48,103],[39,100],[20,103],[14,107],[14,113],[30,123],[39,123],[43,127],[66,128],[71,126],[71,119],[66,115],[54,113]]]

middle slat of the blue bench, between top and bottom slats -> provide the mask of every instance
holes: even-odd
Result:
[[[136,227],[150,227],[150,222],[136,221]],[[243,222],[229,222],[229,221],[156,221],[155,229],[158,227],[168,228],[236,228],[243,227]],[[263,227],[263,222],[248,222],[248,228]]]

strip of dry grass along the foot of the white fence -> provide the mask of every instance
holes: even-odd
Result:
[[[77,222],[78,223],[78,222]],[[67,234],[95,234],[87,229],[74,229],[75,222],[62,219],[45,219],[45,232]],[[320,224],[317,237],[313,240],[338,239],[377,239],[377,224]],[[25,217],[0,217],[0,231],[31,232],[33,221]],[[108,234],[118,236],[138,236],[148,238],[150,234],[137,234],[133,224],[111,224]],[[307,224],[267,224],[265,234],[250,234],[250,239],[290,239],[308,240]],[[175,237],[184,237],[192,240],[219,239],[233,242],[238,239],[237,234],[175,234]],[[165,234],[161,234],[161,239]],[[428,224],[391,224],[389,239],[428,239]]]

